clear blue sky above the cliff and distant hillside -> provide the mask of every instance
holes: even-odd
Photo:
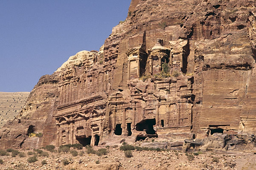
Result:
[[[70,56],[99,50],[131,0],[0,0],[0,91],[31,91]]]

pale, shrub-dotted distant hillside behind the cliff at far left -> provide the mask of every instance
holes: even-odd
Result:
[[[0,127],[13,119],[26,103],[30,92],[0,92]]]

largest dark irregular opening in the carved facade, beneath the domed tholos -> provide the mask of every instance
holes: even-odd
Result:
[[[156,134],[153,126],[156,125],[156,119],[145,119],[140,123],[137,123],[136,130],[137,131],[146,131],[147,134]]]

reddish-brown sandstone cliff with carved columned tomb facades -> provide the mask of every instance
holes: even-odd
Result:
[[[24,146],[31,131],[43,133],[38,146],[147,137],[188,139],[186,149],[254,146],[255,6],[132,0],[99,52],[81,51],[39,80],[19,120],[1,129],[1,147]]]

